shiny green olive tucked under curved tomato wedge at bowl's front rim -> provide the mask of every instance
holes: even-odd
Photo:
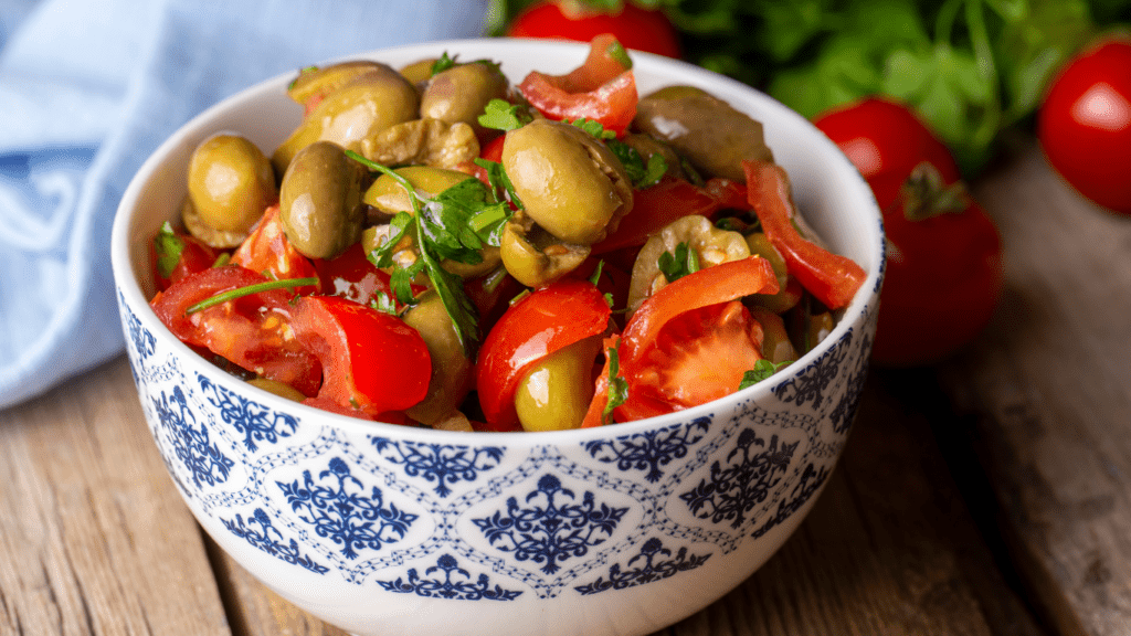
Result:
[[[593,401],[593,363],[601,336],[589,336],[547,355],[518,385],[515,409],[523,429],[576,429]]]

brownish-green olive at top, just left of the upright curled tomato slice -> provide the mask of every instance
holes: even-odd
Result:
[[[489,132],[480,126],[480,115],[487,102],[506,97],[508,88],[507,77],[497,65],[457,65],[435,74],[428,81],[421,96],[421,117],[448,123],[468,123],[483,140]]]

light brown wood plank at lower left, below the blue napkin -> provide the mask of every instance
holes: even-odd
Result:
[[[226,636],[124,358],[0,412],[0,633]]]

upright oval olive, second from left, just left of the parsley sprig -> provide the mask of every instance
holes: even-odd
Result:
[[[295,249],[310,258],[334,258],[361,239],[364,175],[337,144],[316,141],[299,151],[279,191],[279,220]]]

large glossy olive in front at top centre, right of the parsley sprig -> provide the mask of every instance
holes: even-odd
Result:
[[[596,243],[632,208],[620,160],[576,126],[537,119],[511,130],[502,164],[526,214],[562,241]]]

